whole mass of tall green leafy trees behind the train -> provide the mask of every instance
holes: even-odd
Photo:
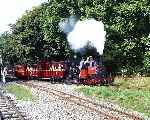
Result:
[[[149,0],[50,0],[27,11],[12,25],[9,37],[1,36],[7,41],[3,51],[13,61],[66,59],[73,51],[59,22],[71,15],[95,18],[107,31],[104,63],[116,71],[143,73],[150,70],[149,4]]]

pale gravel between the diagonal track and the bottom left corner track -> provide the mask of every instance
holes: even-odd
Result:
[[[100,120],[105,117],[93,113],[84,107],[69,103],[57,96],[48,95],[32,89],[34,95],[39,96],[38,101],[20,102],[17,106],[26,111],[31,120]]]

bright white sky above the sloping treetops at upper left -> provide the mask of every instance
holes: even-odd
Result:
[[[0,1],[0,34],[8,31],[10,23],[15,23],[26,10],[48,0],[1,0]]]

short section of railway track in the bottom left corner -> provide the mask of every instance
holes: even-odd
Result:
[[[14,102],[0,89],[0,120],[26,120]]]

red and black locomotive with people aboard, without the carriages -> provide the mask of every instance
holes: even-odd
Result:
[[[81,62],[79,81],[84,84],[107,84],[111,83],[111,74],[105,67],[96,64],[96,61],[89,56],[86,61]]]

